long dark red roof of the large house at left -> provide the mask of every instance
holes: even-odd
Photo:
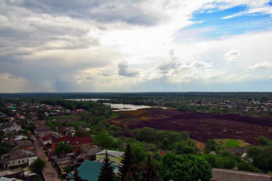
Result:
[[[58,143],[60,141],[67,141],[71,146],[79,146],[83,144],[92,144],[91,136],[77,137],[77,136],[64,136],[60,138],[54,138],[52,143]]]

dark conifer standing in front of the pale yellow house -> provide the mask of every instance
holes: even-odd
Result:
[[[103,166],[100,168],[100,175],[98,181],[114,181],[113,167],[110,166],[110,158],[108,157],[108,152],[104,157]]]

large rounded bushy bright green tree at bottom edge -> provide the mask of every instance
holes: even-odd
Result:
[[[173,181],[210,181],[210,164],[196,155],[174,155],[168,153],[161,160],[161,176]]]

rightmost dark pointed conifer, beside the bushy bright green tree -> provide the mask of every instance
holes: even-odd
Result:
[[[148,155],[147,161],[142,168],[142,181],[160,181],[158,172],[151,160],[151,156]]]

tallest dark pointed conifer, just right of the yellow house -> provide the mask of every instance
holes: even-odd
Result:
[[[133,178],[136,177],[136,164],[134,163],[130,143],[128,143],[127,145],[126,151],[124,153],[124,158],[121,161],[121,164],[118,166],[118,169],[120,181],[126,181],[128,173],[132,174]]]

